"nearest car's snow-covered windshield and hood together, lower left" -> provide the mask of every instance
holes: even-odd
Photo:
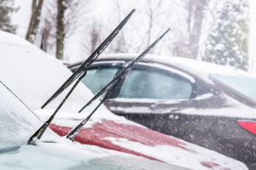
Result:
[[[37,146],[27,139],[42,122],[0,82],[0,169],[173,169],[186,170],[159,161],[132,156],[97,146],[73,143],[47,129]]]

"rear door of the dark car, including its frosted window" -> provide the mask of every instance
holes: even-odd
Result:
[[[195,79],[160,64],[139,63],[105,102],[119,116],[157,130],[166,113],[196,107]]]

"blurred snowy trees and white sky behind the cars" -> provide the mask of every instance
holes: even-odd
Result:
[[[135,8],[104,54],[150,53],[201,59],[256,73],[255,0],[0,0],[0,30],[57,59],[86,59]],[[1,38],[1,37],[0,37]]]

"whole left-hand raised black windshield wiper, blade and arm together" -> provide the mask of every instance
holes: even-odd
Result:
[[[71,77],[69,77],[67,79],[66,82],[64,82],[64,84],[61,86],[61,88],[59,88],[55,94],[53,94],[52,97],[50,97],[47,102],[42,106],[42,109],[44,108],[45,105],[49,104],[50,101],[52,101],[53,99],[55,99],[59,94],[61,94],[61,92],[67,88],[72,82],[74,82],[75,79],[79,78],[77,80],[77,82],[75,82],[75,84],[73,85],[73,88],[71,88],[71,90],[68,92],[68,94],[66,95],[66,97],[61,101],[61,104],[58,106],[58,108],[55,110],[55,112],[53,113],[52,116],[49,117],[49,120],[47,122],[44,122],[44,125],[42,127],[40,127],[38,129],[38,131],[36,133],[34,133],[32,135],[32,137],[27,141],[27,144],[34,144],[34,139],[40,139],[42,137],[42,135],[44,134],[46,128],[49,126],[49,123],[54,119],[56,113],[61,109],[61,106],[65,103],[65,101],[67,100],[67,98],[69,97],[70,94],[72,94],[74,88],[76,88],[76,86],[79,84],[79,82],[85,77],[86,72],[88,67],[97,59],[97,57],[102,53],[102,51],[107,48],[108,44],[113,40],[114,37],[116,37],[116,35],[119,33],[119,31],[122,29],[123,26],[125,26],[125,23],[130,19],[131,14],[133,14],[135,11],[135,9],[131,10],[131,13],[128,14],[124,20],[122,20],[122,22],[119,24],[119,26],[117,26],[113,32],[105,39],[104,42],[102,42],[102,44],[96,48],[96,50],[93,52],[93,54],[90,55],[90,57],[88,59],[86,59],[84,61],[84,63],[79,67],[79,69],[77,71],[75,71],[73,73],[73,75]]]

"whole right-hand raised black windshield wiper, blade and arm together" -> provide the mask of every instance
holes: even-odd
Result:
[[[94,111],[92,111],[90,113],[89,116],[87,116],[83,122],[80,122],[79,125],[77,127],[74,127],[68,134],[67,134],[67,139],[71,139],[73,140],[74,137],[79,133],[79,131],[81,130],[82,127],[84,127],[84,124],[86,122],[88,122],[88,120],[90,119],[90,116],[92,116],[95,111],[102,105],[102,103],[105,101],[105,99],[108,99],[108,97],[112,94],[113,89],[119,84],[119,82],[121,82],[121,80],[125,77],[125,75],[131,71],[131,69],[137,65],[137,63],[143,59],[143,57],[148,54],[148,52],[150,51],[150,49],[154,48],[154,46],[166,35],[166,33],[170,31],[170,28],[162,35],[160,36],[153,44],[151,44],[144,52],[143,54],[140,54],[136,59],[134,59],[127,67],[125,67],[125,69],[123,71],[121,71],[116,77],[113,78],[112,81],[110,81],[104,88],[102,88],[102,90],[100,90],[98,92],[98,94],[95,95],[95,97],[93,99],[90,99],[90,101],[84,105],[84,107],[79,111],[79,113],[81,111],[84,110],[85,107],[87,107],[88,105],[90,105],[94,100],[96,100],[100,95],[102,95],[103,93],[105,93],[108,89],[108,93],[105,95],[105,97],[102,99],[101,103],[99,105],[96,106],[96,109]]]

